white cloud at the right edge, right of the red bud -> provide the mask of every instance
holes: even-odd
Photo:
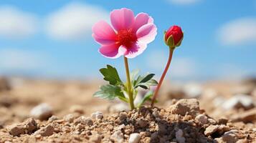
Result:
[[[243,18],[224,24],[218,31],[222,44],[256,43],[256,18]]]

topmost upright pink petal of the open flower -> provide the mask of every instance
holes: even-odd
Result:
[[[115,9],[110,13],[110,21],[116,31],[130,29],[133,26],[134,19],[131,9]]]

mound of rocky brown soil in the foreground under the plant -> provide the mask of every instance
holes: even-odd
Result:
[[[241,127],[241,125],[240,125]],[[256,142],[255,131],[227,119],[212,119],[196,99],[181,99],[166,109],[141,107],[91,117],[67,114],[47,122],[27,119],[0,130],[0,142]]]

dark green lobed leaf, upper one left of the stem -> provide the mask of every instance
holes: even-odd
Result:
[[[100,73],[103,74],[104,80],[108,81],[111,85],[120,85],[122,81],[118,75],[118,71],[110,65],[107,68],[100,69]]]

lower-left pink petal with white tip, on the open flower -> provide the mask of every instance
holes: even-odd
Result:
[[[126,49],[118,44],[103,45],[99,49],[100,54],[103,56],[116,59],[126,53]]]

